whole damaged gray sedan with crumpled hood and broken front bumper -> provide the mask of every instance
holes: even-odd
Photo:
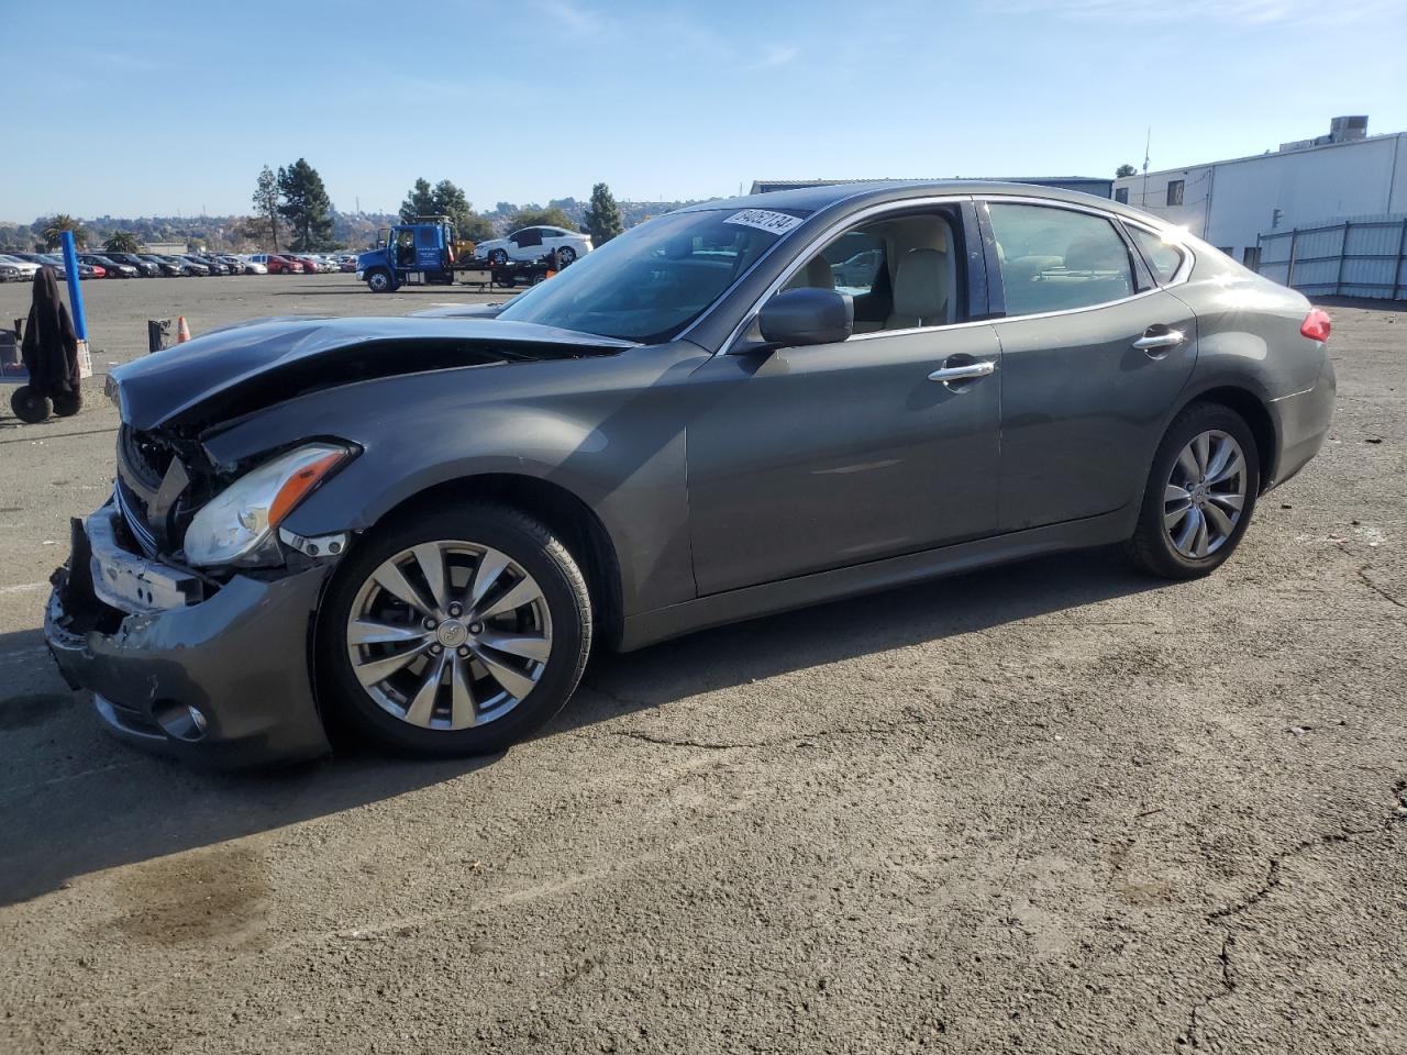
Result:
[[[1328,318],[1135,210],[817,187],[660,217],[499,309],[121,367],[45,629],[218,765],[502,750],[594,647],[1123,543],[1206,575],[1318,450]]]

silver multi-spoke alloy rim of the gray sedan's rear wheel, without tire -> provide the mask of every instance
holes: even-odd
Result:
[[[1164,487],[1164,530],[1183,557],[1199,560],[1235,533],[1247,499],[1241,445],[1225,432],[1197,433],[1178,454]]]

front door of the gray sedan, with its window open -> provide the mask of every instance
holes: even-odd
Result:
[[[718,354],[699,367],[688,490],[701,594],[995,530],[1000,349],[991,325],[964,321],[974,312],[958,295],[968,291],[962,228],[957,205],[908,218],[881,211],[781,283],[833,287],[833,267],[854,255],[857,238],[881,232],[874,271],[851,274],[844,291],[857,316],[882,316],[872,329],[830,345]],[[931,263],[938,252],[947,271],[934,286],[947,288],[919,288],[933,314],[900,315],[922,307],[922,295],[908,295],[916,264],[906,262],[919,253]],[[967,376],[944,381],[934,376],[943,370]]]

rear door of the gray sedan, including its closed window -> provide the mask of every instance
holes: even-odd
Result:
[[[1142,498],[1197,324],[1096,208],[991,198],[1002,345],[1002,530]]]

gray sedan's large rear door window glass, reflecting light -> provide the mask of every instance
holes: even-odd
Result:
[[[1128,249],[1103,217],[1048,205],[991,205],[1007,315],[1107,304],[1133,295]]]

